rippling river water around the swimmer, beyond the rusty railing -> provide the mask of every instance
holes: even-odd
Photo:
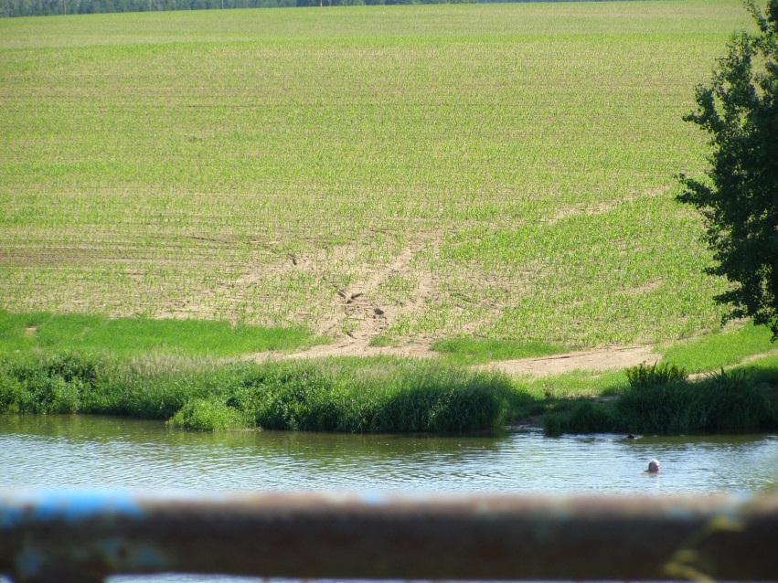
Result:
[[[659,475],[643,473],[651,458]],[[158,421],[0,416],[0,488],[743,493],[778,486],[778,436],[401,437],[196,433]],[[238,579],[160,576],[113,583]],[[246,580],[246,579],[243,579]],[[252,579],[253,580],[253,579]]]

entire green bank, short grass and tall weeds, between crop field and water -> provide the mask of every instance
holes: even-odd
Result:
[[[688,433],[778,426],[778,355],[745,325],[659,347],[662,364],[536,379],[467,366],[560,347],[460,337],[439,358],[229,362],[321,339],[302,329],[0,312],[0,413],[95,413],[187,429],[476,432],[542,419],[549,433]]]

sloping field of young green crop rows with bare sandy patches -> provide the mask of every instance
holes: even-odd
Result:
[[[681,121],[737,0],[0,21],[0,309],[563,347],[718,329]]]

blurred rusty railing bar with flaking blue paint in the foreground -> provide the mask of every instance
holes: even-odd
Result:
[[[778,495],[0,493],[0,573],[778,579]]]

